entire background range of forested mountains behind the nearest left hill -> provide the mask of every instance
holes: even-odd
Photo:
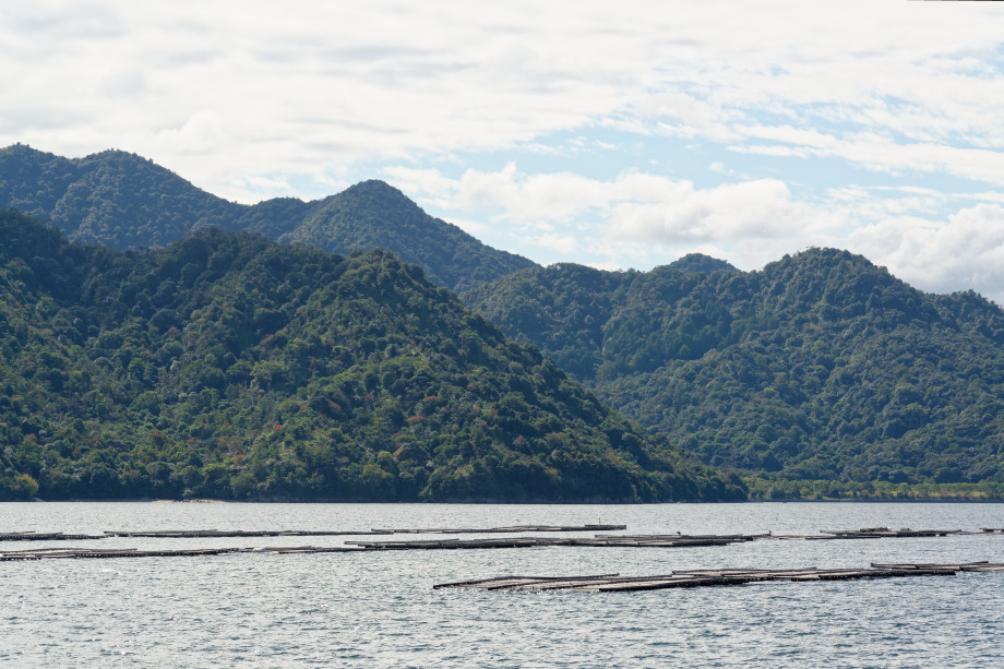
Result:
[[[156,178],[130,181],[123,166]],[[113,151],[0,150],[3,198],[104,243],[220,226],[342,253],[385,247],[677,447],[745,473],[755,493],[1004,485],[1001,310],[972,291],[923,294],[847,251],[813,248],[756,272],[697,253],[648,272],[541,267],[381,181],[238,205]],[[123,232],[123,218],[148,229]]]

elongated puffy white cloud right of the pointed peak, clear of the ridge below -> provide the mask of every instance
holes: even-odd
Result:
[[[610,242],[681,242],[777,238],[833,227],[839,222],[792,200],[776,179],[756,179],[696,189],[691,181],[629,171],[612,180],[569,172],[521,172],[510,163],[495,172],[468,169],[451,180],[435,170],[387,170],[431,195],[445,210],[481,210],[522,226],[593,219]]]

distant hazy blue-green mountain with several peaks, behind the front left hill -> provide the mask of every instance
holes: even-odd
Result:
[[[314,202],[280,198],[243,205],[120,151],[69,159],[23,144],[2,148],[0,207],[49,220],[71,240],[118,249],[166,246],[214,226],[338,253],[382,248],[455,290],[534,265],[429,216],[382,181]]]

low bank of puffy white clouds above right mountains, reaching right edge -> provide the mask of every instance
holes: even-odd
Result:
[[[785,253],[838,247],[922,289],[975,287],[1004,303],[1004,207],[980,202],[944,220],[930,218],[960,201],[978,202],[979,193],[847,186],[810,204],[776,179],[701,189],[636,171],[599,180],[525,174],[514,164],[456,179],[428,169],[390,171],[447,219],[453,212],[492,217],[482,239],[538,261],[647,268],[697,251],[755,270]]]

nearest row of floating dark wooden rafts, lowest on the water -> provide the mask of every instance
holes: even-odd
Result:
[[[857,578],[901,578],[907,576],[953,576],[959,572],[1004,571],[1004,564],[969,562],[964,564],[872,564],[866,569],[791,569],[791,570],[682,570],[655,576],[495,576],[458,583],[441,583],[433,589],[476,588],[481,590],[571,590],[581,593],[630,593],[670,588],[745,585],[749,583],[809,581],[850,581]]]

